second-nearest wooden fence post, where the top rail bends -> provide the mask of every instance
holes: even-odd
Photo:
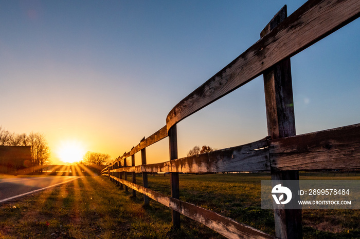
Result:
[[[170,160],[177,159],[177,131],[176,124],[169,129],[169,151],[170,151]],[[170,183],[171,183],[171,196],[173,198],[179,199],[179,173],[171,172],[170,173]],[[171,210],[172,225],[176,229],[180,229],[180,213]]]

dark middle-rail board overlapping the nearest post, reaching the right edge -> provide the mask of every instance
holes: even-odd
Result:
[[[360,124],[269,141],[272,170],[360,168]]]

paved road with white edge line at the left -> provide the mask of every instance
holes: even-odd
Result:
[[[76,180],[75,176],[14,177],[0,179],[0,203]]]

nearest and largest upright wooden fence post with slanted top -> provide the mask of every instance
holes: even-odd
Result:
[[[260,36],[263,37],[273,30],[286,17],[285,5]],[[273,139],[296,135],[290,58],[264,72],[264,89],[268,135]],[[277,180],[299,180],[298,171],[272,171],[271,175],[273,186],[277,184]],[[299,188],[294,190],[299,190]],[[297,195],[294,196],[293,202],[296,201]],[[301,209],[287,209],[291,208],[290,203],[283,206],[282,209],[274,210],[276,236],[302,238]]]

